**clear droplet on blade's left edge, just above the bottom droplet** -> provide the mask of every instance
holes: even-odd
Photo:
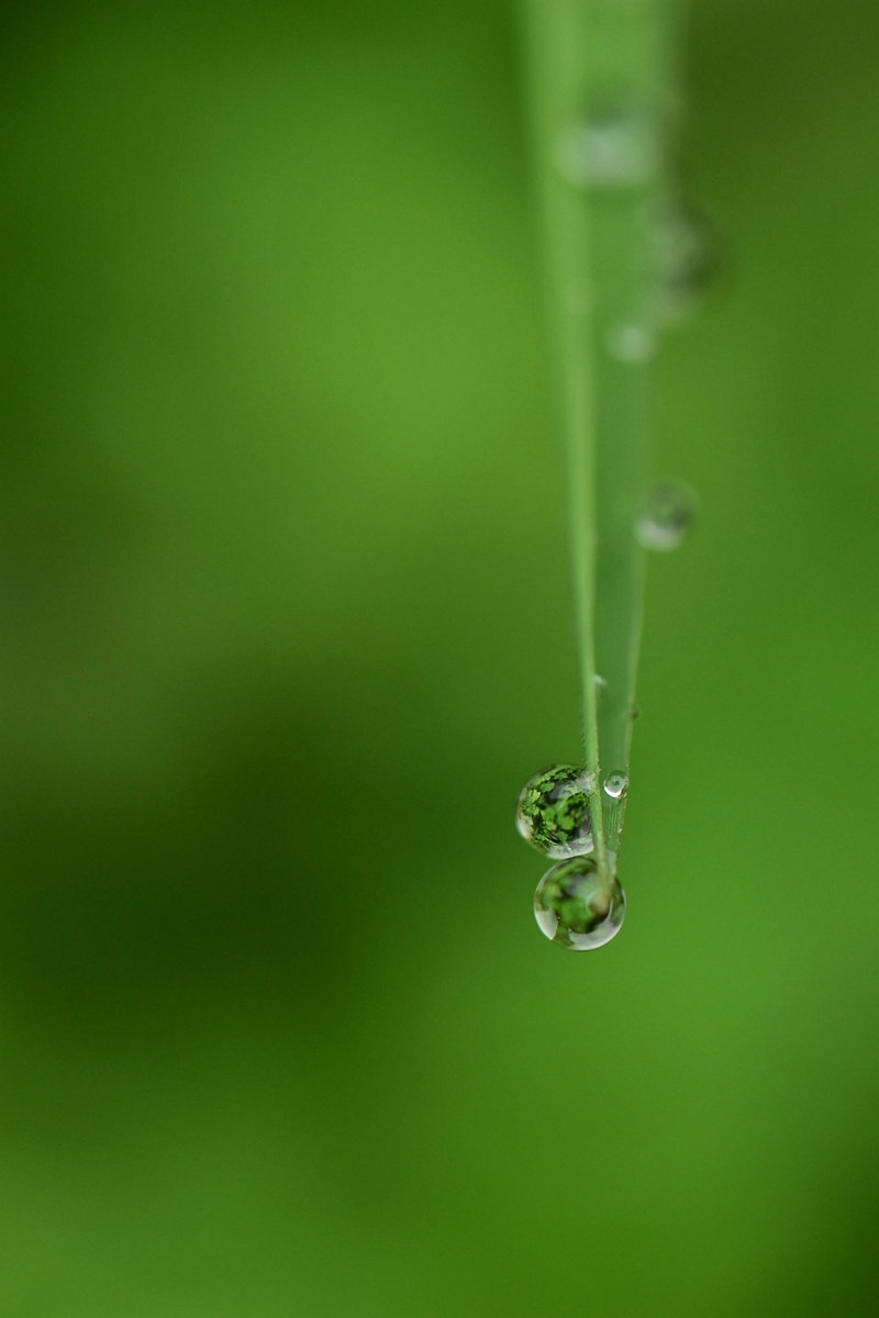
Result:
[[[593,850],[589,796],[594,778],[576,764],[555,764],[519,792],[515,825],[531,846],[556,859]]]

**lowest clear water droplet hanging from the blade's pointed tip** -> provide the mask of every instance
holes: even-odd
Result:
[[[542,932],[560,948],[589,952],[618,932],[626,894],[617,878],[608,891],[594,859],[580,855],[547,870],[534,894],[534,915]]]

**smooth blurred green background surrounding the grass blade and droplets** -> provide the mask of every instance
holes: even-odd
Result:
[[[503,0],[3,7],[0,1310],[879,1311],[879,25],[696,0],[629,917]]]

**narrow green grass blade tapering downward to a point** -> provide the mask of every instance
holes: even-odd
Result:
[[[525,0],[568,453],[584,754],[596,780],[593,832],[605,884],[615,874],[623,800],[604,796],[602,770],[627,774],[643,593],[634,530],[646,484],[656,328],[651,220],[662,17],[659,0]],[[606,150],[601,156],[614,144],[617,174]],[[565,152],[577,149],[569,161]]]

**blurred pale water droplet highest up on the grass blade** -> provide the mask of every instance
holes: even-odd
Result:
[[[556,163],[577,187],[638,187],[659,167],[654,124],[637,107],[605,105],[565,129]]]

